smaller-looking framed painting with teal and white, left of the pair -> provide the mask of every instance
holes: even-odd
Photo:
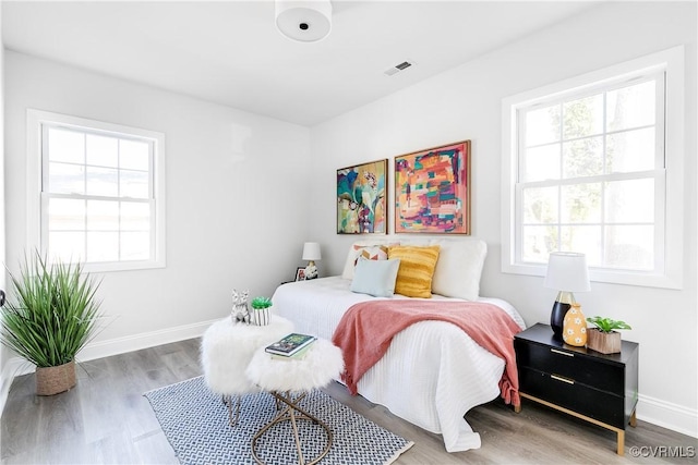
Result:
[[[337,170],[337,234],[387,233],[388,160]]]

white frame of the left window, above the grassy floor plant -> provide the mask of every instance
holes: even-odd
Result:
[[[151,268],[164,268],[165,257],[165,134],[142,130],[139,127],[124,126],[120,124],[106,123],[101,121],[88,120],[85,118],[71,117],[67,114],[52,113],[48,111],[27,109],[27,244],[31,248],[36,248],[46,254],[46,232],[41,229],[43,215],[46,203],[41,199],[43,183],[43,129],[45,124],[74,127],[80,131],[108,132],[120,136],[136,136],[149,139],[153,143],[153,203],[154,218],[151,220],[151,244],[152,257],[146,260],[124,260],[84,262],[83,269],[86,272],[108,272],[141,270]],[[47,257],[49,260],[51,257]]]

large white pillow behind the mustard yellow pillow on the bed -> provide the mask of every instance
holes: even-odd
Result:
[[[446,297],[476,301],[480,295],[480,276],[488,244],[474,237],[433,240],[440,245],[438,261],[432,278],[432,292]]]

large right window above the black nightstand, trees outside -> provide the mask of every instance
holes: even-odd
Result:
[[[593,280],[681,286],[682,101],[683,49],[506,99],[503,269],[574,250]]]

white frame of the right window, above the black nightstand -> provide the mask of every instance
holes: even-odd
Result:
[[[604,83],[616,83],[638,74],[665,73],[665,125],[664,156],[665,182],[658,182],[657,189],[664,188],[663,264],[658,271],[643,272],[610,268],[589,269],[592,281],[650,287],[683,287],[684,250],[684,47],[652,53],[614,66],[594,71],[537,89],[507,97],[502,102],[502,272],[528,276],[545,276],[546,264],[522,262],[517,229],[520,206],[516,186],[518,182],[518,129],[517,111],[568,94],[583,93]],[[659,198],[655,196],[655,198]],[[658,211],[661,211],[658,210]],[[662,255],[662,254],[660,254]]]

